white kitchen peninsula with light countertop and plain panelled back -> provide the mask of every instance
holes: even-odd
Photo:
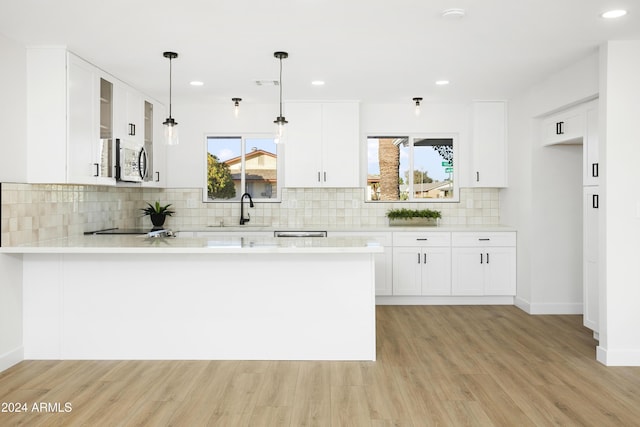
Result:
[[[23,259],[25,359],[375,360],[375,241],[78,236]]]

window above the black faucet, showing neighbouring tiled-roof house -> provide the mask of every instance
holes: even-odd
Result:
[[[207,201],[279,201],[278,145],[272,137],[208,136]]]

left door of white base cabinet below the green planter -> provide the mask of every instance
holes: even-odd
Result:
[[[422,266],[420,248],[393,248],[393,295],[421,295]]]

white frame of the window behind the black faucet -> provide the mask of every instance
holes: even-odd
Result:
[[[218,138],[218,139],[240,139],[240,188],[241,193],[243,194],[247,190],[247,182],[246,182],[246,155],[247,155],[247,140],[249,139],[270,139],[274,140],[275,138],[273,134],[269,133],[255,133],[255,132],[234,132],[234,133],[206,133],[204,135],[204,177],[203,177],[203,187],[202,187],[202,201],[204,203],[240,203],[240,199],[209,199],[208,195],[208,168],[209,165],[207,163],[207,155],[209,153],[209,139],[210,138]],[[284,154],[282,149],[282,144],[278,144],[274,142],[276,146],[276,197],[274,198],[262,198],[262,197],[253,197],[252,200],[254,202],[260,203],[280,203],[282,198],[282,183],[284,182]]]

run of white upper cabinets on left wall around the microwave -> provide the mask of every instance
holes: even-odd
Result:
[[[160,140],[144,99],[64,48],[27,49],[28,182],[115,185],[115,140]],[[148,150],[158,168],[148,180],[161,185],[164,152]]]

